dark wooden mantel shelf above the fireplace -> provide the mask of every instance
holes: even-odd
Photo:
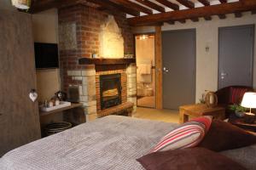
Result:
[[[79,65],[129,65],[136,63],[136,59],[92,59],[92,58],[81,58],[79,59]]]

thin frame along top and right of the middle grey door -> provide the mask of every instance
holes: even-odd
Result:
[[[196,96],[196,61],[197,61],[197,59],[196,59],[196,28],[188,28],[188,29],[180,29],[180,30],[168,30],[168,31],[162,31],[162,32],[177,32],[177,31],[195,31],[195,38],[194,38],[194,42],[195,42],[195,63],[194,63],[194,65],[195,65],[195,71],[194,71],[194,80],[195,80],[195,82],[193,83],[193,97],[194,97],[194,103],[195,103],[195,96]],[[163,57],[161,58],[161,59],[163,59]]]

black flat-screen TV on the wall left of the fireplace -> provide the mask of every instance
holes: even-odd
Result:
[[[58,45],[56,43],[35,42],[36,68],[58,68],[59,56]]]

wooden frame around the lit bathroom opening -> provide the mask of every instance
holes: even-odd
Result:
[[[155,32],[154,31],[149,31],[149,32],[145,32],[145,33],[136,33],[136,34],[133,34],[133,40],[134,40],[134,54],[135,54],[135,59],[137,60],[137,56],[136,56],[136,37],[137,36],[142,36],[142,35],[154,35],[154,65],[155,65],[155,74],[154,74],[154,107],[147,107],[147,106],[142,106],[140,105],[140,107],[145,107],[145,108],[152,108],[152,109],[158,109],[158,105],[157,105],[157,102],[156,102],[156,99],[157,99],[157,86],[156,86],[156,82],[158,82],[158,80],[156,79],[157,78],[157,71],[156,71],[156,55],[155,55]],[[137,64],[137,62],[136,62]],[[136,83],[137,83],[137,75],[136,75]],[[136,88],[137,88],[137,84],[136,84]],[[136,96],[137,97],[137,96]]]

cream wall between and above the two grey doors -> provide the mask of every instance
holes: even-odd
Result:
[[[199,22],[186,20],[186,24],[176,22],[175,25],[165,24],[162,31],[196,29],[196,92],[195,101],[201,99],[205,90],[216,91],[218,89],[218,27],[255,25],[256,14],[243,13],[241,18],[235,18],[234,14],[228,14],[227,19],[219,20],[213,16],[211,21],[201,19]],[[255,27],[256,28],[256,27]],[[134,29],[135,33],[154,32],[154,27],[145,26]],[[255,31],[256,40],[256,31]],[[181,44],[182,45],[182,44]],[[206,52],[206,46],[210,47]],[[256,43],[254,43],[254,64],[256,65]],[[256,66],[253,66],[253,88],[256,88]]]

